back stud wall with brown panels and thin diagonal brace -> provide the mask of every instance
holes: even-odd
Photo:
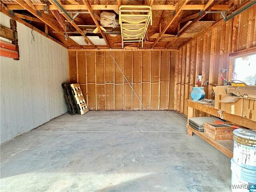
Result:
[[[69,50],[68,60],[69,82],[80,84],[90,110],[174,109],[176,51]]]

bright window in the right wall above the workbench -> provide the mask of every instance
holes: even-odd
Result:
[[[256,85],[256,54],[235,59],[232,79]]]

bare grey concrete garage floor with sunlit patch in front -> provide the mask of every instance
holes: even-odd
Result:
[[[64,114],[1,146],[1,191],[230,191],[230,158],[171,111]]]

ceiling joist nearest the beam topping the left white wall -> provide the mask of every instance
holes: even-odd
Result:
[[[50,26],[53,30],[55,30],[56,32],[58,32],[60,35],[63,35],[63,32],[56,26],[54,26],[54,24],[52,24],[48,19],[45,18],[45,13],[40,12],[40,14],[38,14],[38,11],[34,10],[32,7],[28,6],[28,4],[26,4],[24,1],[21,0],[16,0],[16,2],[22,6],[24,9],[28,10],[28,12],[30,12],[31,14],[33,14],[34,16],[36,16],[38,19],[40,19],[42,22],[44,22],[45,24],[47,24],[48,26]],[[72,42],[74,42],[74,40],[72,40],[70,38],[70,40]],[[63,44],[67,44],[65,41],[62,41]],[[74,42],[78,47],[81,47],[78,43]]]

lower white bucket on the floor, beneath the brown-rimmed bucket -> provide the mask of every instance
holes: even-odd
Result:
[[[255,192],[256,170],[243,168],[231,159],[231,190],[232,192]]]

